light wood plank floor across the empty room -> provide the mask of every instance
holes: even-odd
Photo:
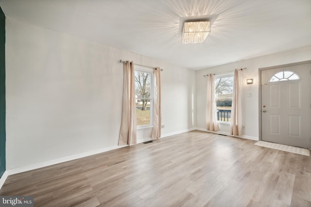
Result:
[[[191,131],[10,175],[0,195],[51,207],[311,207],[311,158],[254,143]]]

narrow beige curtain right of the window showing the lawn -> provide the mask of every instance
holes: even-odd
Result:
[[[159,139],[161,137],[161,79],[160,68],[156,67],[154,70],[154,128],[152,130],[152,138]]]

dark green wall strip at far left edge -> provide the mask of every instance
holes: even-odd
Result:
[[[0,177],[5,171],[5,16],[0,7]]]

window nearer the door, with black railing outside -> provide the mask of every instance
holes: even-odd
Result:
[[[233,78],[233,73],[215,76],[216,111],[217,120],[220,122],[230,121],[233,97]]]

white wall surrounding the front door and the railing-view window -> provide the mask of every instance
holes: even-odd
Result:
[[[251,139],[259,138],[259,68],[290,64],[311,60],[311,46],[297,48],[285,52],[270,54],[258,58],[252,58],[235,63],[219,65],[196,71],[196,127],[206,129],[206,96],[207,79],[203,77],[209,73],[221,73],[233,71],[235,68],[247,67],[242,72],[242,114],[243,114],[243,136]],[[246,79],[254,79],[254,83],[247,85]],[[252,97],[247,97],[251,93]],[[223,127],[228,132],[228,127]]]

